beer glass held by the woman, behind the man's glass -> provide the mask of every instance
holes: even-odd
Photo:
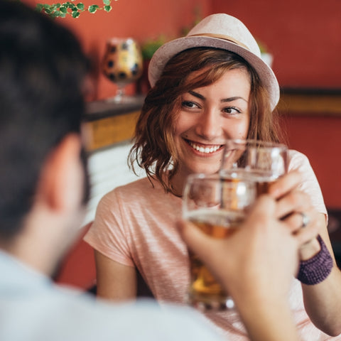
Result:
[[[248,179],[256,183],[257,195],[267,193],[271,183],[287,173],[288,147],[259,140],[226,141],[220,175],[225,180]]]

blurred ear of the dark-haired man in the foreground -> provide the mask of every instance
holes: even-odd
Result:
[[[55,147],[40,173],[38,200],[51,210],[74,210],[80,205],[84,170],[80,161],[80,136],[68,134]]]

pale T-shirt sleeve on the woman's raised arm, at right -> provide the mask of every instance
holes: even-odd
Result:
[[[308,158],[298,151],[290,151],[289,158],[288,171],[298,170],[303,174],[301,190],[310,196],[311,203],[313,207],[315,207],[315,210],[327,216],[322,191]]]

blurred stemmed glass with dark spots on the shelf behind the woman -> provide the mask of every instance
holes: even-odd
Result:
[[[106,77],[117,84],[117,94],[109,100],[129,102],[124,87],[139,79],[143,71],[141,50],[132,38],[111,38],[102,61],[102,71]]]

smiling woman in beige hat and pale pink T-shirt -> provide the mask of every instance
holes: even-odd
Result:
[[[148,77],[152,87],[129,155],[131,167],[137,164],[147,176],[104,195],[85,241],[95,249],[99,296],[136,297],[139,272],[158,301],[185,303],[188,251],[175,222],[181,216],[186,177],[216,173],[227,138],[280,141],[275,109],[279,87],[254,37],[227,14],[208,16],[188,36],[161,46]],[[290,151],[288,168],[305,173],[300,190],[312,198],[328,242],[323,197],[308,159]],[[317,241],[312,243],[305,256],[316,251]],[[305,312],[302,289],[309,291],[293,281],[289,298],[301,340],[325,340]],[[310,291],[312,297],[318,295]],[[318,314],[317,320],[325,320]],[[236,312],[206,317],[231,340],[249,340]]]

